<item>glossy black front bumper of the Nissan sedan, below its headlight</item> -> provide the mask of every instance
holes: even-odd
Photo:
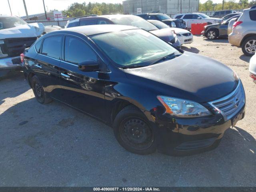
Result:
[[[158,152],[184,156],[212,150],[218,146],[232,122],[244,118],[243,107],[233,118],[225,121],[221,114],[200,118],[155,118]]]

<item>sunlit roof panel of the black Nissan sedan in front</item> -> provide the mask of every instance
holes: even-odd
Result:
[[[78,26],[78,27],[70,27],[66,29],[58,30],[61,31],[73,31],[85,34],[86,36],[109,33],[109,32],[117,32],[124,30],[132,30],[139,29],[134,26],[126,26],[126,25],[88,25],[88,26]]]

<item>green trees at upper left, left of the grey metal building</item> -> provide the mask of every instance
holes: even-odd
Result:
[[[112,13],[123,13],[123,5],[120,3],[73,3],[68,9],[62,11],[68,17],[79,17],[84,15],[105,15]]]

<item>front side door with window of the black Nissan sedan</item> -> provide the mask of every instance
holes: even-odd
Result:
[[[61,100],[100,119],[105,118],[105,80],[101,72],[83,72],[78,64],[98,60],[99,56],[82,39],[66,35],[64,60],[60,63]],[[102,62],[100,62],[104,65]]]

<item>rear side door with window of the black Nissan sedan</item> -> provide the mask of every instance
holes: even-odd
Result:
[[[44,38],[34,65],[34,72],[36,72],[45,92],[56,99],[60,98],[59,66],[62,38],[62,35]]]

